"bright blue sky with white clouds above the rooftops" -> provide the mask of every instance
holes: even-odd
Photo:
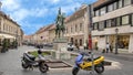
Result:
[[[55,21],[61,7],[65,15],[74,12],[82,3],[96,0],[0,0],[2,11],[21,25],[25,34],[33,34],[41,26]]]

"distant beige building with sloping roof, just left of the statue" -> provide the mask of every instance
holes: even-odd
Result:
[[[33,44],[44,44],[44,43],[51,43],[52,38],[54,38],[54,31],[52,28],[53,24],[49,24],[47,26],[43,26],[39,29],[33,35],[32,35],[32,43]]]

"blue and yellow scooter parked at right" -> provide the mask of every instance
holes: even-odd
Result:
[[[92,71],[92,58],[89,57],[86,61],[83,61],[84,53],[79,54],[79,56],[75,58],[75,65],[72,69],[72,74],[76,75],[80,69],[84,71]],[[98,74],[102,74],[104,72],[104,56],[99,56],[93,60],[94,71]]]

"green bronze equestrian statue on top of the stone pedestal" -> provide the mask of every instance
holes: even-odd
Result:
[[[59,8],[59,13],[55,20],[55,38],[62,38],[65,31],[64,26],[64,15],[61,13],[61,8]],[[62,36],[61,36],[62,33]]]

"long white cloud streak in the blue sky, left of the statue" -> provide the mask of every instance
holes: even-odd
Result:
[[[11,13],[11,18],[18,22],[21,22],[23,21],[25,18],[29,18],[29,17],[38,17],[38,18],[41,18],[41,17],[44,17],[44,14],[48,12],[48,9],[44,8],[43,10],[42,9],[31,9],[31,10],[28,10],[28,9],[19,9],[17,11],[14,11],[13,13]]]

